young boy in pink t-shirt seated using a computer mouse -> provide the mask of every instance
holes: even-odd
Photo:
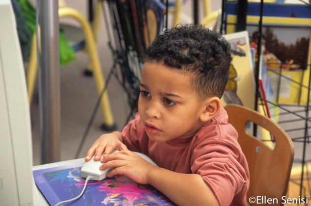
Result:
[[[247,162],[220,105],[231,59],[219,33],[195,25],[166,30],[146,51],[136,118],[103,134],[85,160],[95,154],[106,162],[100,169],[115,167],[108,177],[151,184],[180,206],[246,206]]]

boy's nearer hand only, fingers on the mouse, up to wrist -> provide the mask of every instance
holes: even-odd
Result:
[[[104,157],[104,162],[106,163],[101,165],[99,169],[105,170],[114,167],[114,169],[108,173],[108,177],[125,175],[141,184],[148,184],[148,173],[153,168],[157,168],[138,154],[129,150],[123,150],[115,154],[107,155]]]

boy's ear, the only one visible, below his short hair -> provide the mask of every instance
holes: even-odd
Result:
[[[204,101],[204,110],[200,115],[201,122],[207,122],[216,116],[221,107],[220,99],[218,97],[211,97]]]

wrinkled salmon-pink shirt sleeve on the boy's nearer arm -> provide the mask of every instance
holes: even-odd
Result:
[[[192,173],[202,177],[220,206],[229,206],[241,192],[246,195],[249,176],[245,168],[246,159],[239,146],[223,140],[211,140],[199,145],[193,154]]]

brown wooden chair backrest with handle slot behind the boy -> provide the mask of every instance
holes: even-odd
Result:
[[[250,197],[260,196],[261,204],[264,198],[272,198],[272,205],[282,205],[282,196],[286,195],[290,170],[294,158],[294,147],[286,132],[274,121],[244,106],[228,104],[225,107],[228,122],[239,134],[238,142],[246,156],[250,170]],[[247,134],[245,129],[249,122],[268,130],[275,138],[275,148],[272,150],[261,140]],[[276,201],[276,199],[278,201]],[[256,205],[251,204],[251,205]],[[270,205],[270,204],[269,204]]]

